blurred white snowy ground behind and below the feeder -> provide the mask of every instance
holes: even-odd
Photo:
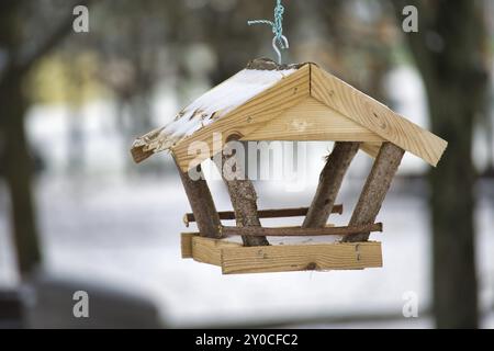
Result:
[[[383,269],[224,276],[217,268],[180,259],[179,234],[190,228],[181,223],[189,210],[178,181],[175,176],[99,183],[40,181],[40,220],[49,271],[141,292],[156,301],[162,317],[172,325],[236,325],[283,318],[294,318],[296,324],[300,318],[313,318],[312,327],[433,326],[428,318],[401,317],[405,292],[418,295],[424,315],[430,303],[428,218],[419,184],[398,179],[386,199],[379,217],[384,234],[374,236],[383,241]],[[345,183],[339,202],[346,212],[334,217],[336,224],[348,220],[361,182],[351,179]],[[260,207],[306,205],[313,186],[287,194],[273,184],[259,184]],[[213,182],[212,188],[217,207],[229,208],[222,184]],[[487,199],[482,197],[476,213],[479,278],[482,304],[492,307],[494,206]],[[5,204],[0,206],[0,286],[14,285]],[[283,223],[296,224],[300,218]],[[321,321],[352,315],[398,319]],[[494,327],[492,317],[484,327]]]

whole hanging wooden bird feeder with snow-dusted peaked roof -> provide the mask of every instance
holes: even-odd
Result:
[[[193,181],[188,171],[201,172],[201,161],[212,158],[214,137],[222,145],[231,139],[332,140],[332,154],[321,173],[319,184],[308,207],[257,208],[257,194],[247,180],[227,180],[232,212],[217,212],[206,181]],[[209,145],[209,152],[190,155],[194,141]],[[134,141],[136,162],[169,150],[189,197],[199,233],[182,234],[183,258],[218,265],[224,274],[285,272],[303,270],[357,270],[382,267],[381,244],[368,241],[372,231],[382,231],[375,223],[405,151],[436,166],[447,141],[423,129],[385,105],[366,95],[315,64],[280,66],[256,59],[246,69],[206,92],[165,127]],[[363,190],[345,227],[327,225],[345,173],[358,150],[374,158]],[[220,152],[223,154],[223,152]],[[222,155],[221,167],[228,159]],[[261,227],[259,218],[304,216],[300,227]],[[235,219],[237,226],[222,220]],[[336,242],[274,245],[280,237],[338,236]],[[232,241],[232,238],[239,240]],[[305,240],[306,241],[306,240]]]

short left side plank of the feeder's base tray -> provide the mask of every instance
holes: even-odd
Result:
[[[214,265],[222,264],[222,249],[242,248],[240,244],[200,236],[192,237],[192,258],[194,261]]]

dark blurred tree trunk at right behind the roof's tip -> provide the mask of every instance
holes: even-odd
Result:
[[[419,32],[405,34],[425,82],[433,131],[449,140],[430,172],[434,310],[439,328],[478,327],[473,126],[485,113],[489,70],[483,1],[400,0],[417,7]]]

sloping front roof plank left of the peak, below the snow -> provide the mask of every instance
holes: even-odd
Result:
[[[263,126],[268,121],[282,114],[285,110],[299,104],[308,95],[310,65],[305,65],[221,120],[178,143],[172,148],[172,151],[182,170],[187,171],[197,163],[212,157],[215,151],[220,151],[213,145],[213,133],[218,133],[220,141],[224,146],[231,135],[248,135],[250,132]],[[193,143],[195,141],[205,143],[204,145],[207,145],[209,152],[203,152],[200,156],[195,155],[193,148]],[[190,147],[191,149],[189,150]]]

